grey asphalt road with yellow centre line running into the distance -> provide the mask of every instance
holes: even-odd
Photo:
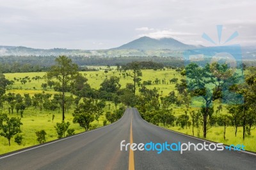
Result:
[[[241,151],[120,151],[123,140],[204,143],[151,125],[129,108],[122,119],[107,127],[1,155],[0,169],[256,169],[256,155]]]

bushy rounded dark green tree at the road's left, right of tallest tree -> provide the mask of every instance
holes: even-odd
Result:
[[[87,131],[90,128],[90,123],[95,120],[97,112],[100,112],[100,109],[95,104],[95,100],[84,98],[83,103],[80,103],[73,113],[73,122],[79,123],[80,127]]]

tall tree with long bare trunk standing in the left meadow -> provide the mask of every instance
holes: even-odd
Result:
[[[68,85],[78,74],[78,66],[72,63],[67,56],[60,56],[55,59],[56,65],[51,66],[46,73],[48,81],[54,81],[54,86],[62,92],[62,120],[65,120],[65,92],[68,91]]]

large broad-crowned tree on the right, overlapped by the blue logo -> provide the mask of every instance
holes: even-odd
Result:
[[[207,118],[211,113],[212,101],[223,98],[223,91],[227,91],[228,86],[236,84],[239,76],[234,70],[228,68],[227,64],[207,63],[204,67],[196,63],[190,63],[186,70],[182,71],[188,79],[188,91],[193,97],[202,97],[204,99],[203,130],[204,138],[207,134]]]

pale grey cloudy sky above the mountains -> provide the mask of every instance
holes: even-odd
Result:
[[[0,0],[0,45],[108,49],[141,36],[256,45],[255,0]]]

